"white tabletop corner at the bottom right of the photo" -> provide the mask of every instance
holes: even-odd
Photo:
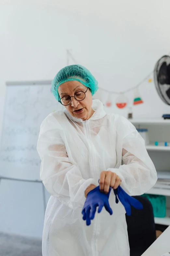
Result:
[[[170,252],[170,226],[141,256],[161,256],[166,252]]]

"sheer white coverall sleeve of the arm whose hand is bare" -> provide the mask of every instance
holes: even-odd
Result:
[[[146,193],[157,181],[155,166],[136,128],[124,117],[115,122],[117,140],[122,142],[123,165],[111,168],[121,179],[122,188],[130,196]]]

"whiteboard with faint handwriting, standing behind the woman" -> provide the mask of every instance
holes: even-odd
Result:
[[[51,93],[51,81],[8,82],[0,150],[0,176],[40,180],[36,150],[40,125],[64,107]]]

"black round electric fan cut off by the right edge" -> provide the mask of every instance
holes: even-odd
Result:
[[[170,56],[165,55],[157,61],[154,69],[154,82],[163,102],[170,105]],[[169,119],[170,114],[163,115],[163,117]]]

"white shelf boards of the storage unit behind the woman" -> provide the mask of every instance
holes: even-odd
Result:
[[[136,128],[142,127],[142,128],[148,128],[150,132],[151,141],[167,141],[170,142],[170,119],[164,120],[162,119],[131,119],[129,120]],[[155,132],[155,129],[158,129]],[[163,140],[164,139],[164,140]],[[154,143],[150,145],[146,145],[146,149],[152,157],[154,157],[156,164],[158,162],[163,161],[163,171],[169,171],[170,172],[170,146],[163,146],[158,145],[155,146]],[[166,156],[165,156],[166,155]],[[155,164],[153,161],[153,163]],[[164,163],[166,162],[166,163]],[[158,170],[160,170],[161,164],[159,164]],[[157,167],[155,165],[155,167]],[[156,168],[157,169],[157,168]],[[165,170],[166,169],[166,170]],[[147,194],[152,195],[163,195],[163,196],[170,196],[170,189],[163,189],[158,188],[155,184],[154,187],[152,187]],[[169,201],[169,200],[167,200]],[[156,224],[162,224],[162,225],[170,225],[170,205],[166,205],[166,217],[164,218],[154,218]]]

